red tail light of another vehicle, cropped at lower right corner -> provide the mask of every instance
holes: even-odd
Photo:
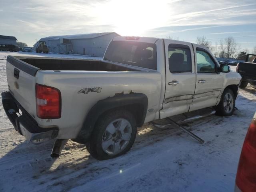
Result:
[[[244,192],[256,191],[256,120],[253,119],[242,148],[236,185]]]

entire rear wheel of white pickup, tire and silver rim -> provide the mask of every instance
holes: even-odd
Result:
[[[98,160],[115,158],[130,150],[136,133],[134,116],[126,110],[113,110],[100,117],[86,148]]]

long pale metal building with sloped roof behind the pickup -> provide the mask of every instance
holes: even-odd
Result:
[[[116,32],[50,36],[41,38],[49,47],[49,51],[59,54],[82,54],[103,57],[112,38],[120,36]],[[34,44],[34,50],[38,42]]]

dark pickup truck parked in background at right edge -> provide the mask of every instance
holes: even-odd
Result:
[[[247,54],[245,62],[237,65],[236,72],[242,76],[240,88],[246,88],[248,83],[256,86],[256,55]]]

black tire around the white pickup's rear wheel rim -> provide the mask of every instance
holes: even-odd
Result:
[[[117,119],[125,119],[131,125],[131,136],[130,140],[126,144],[123,150],[121,150],[118,154],[108,154],[102,148],[102,139],[105,135],[105,131],[107,126]],[[107,113],[104,113],[97,121],[96,125],[94,126],[94,130],[90,137],[90,141],[86,144],[86,148],[88,152],[97,160],[106,160],[115,158],[126,153],[132,147],[137,134],[136,128],[136,120],[134,116],[126,110],[111,110]]]

